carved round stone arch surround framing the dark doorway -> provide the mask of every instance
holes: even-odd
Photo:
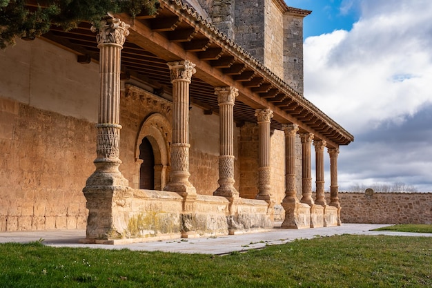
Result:
[[[168,175],[170,170],[170,143],[172,137],[172,127],[170,121],[159,113],[149,115],[139,129],[137,141],[135,143],[135,175],[140,174],[141,163],[143,160],[139,159],[139,145],[144,137],[148,139],[155,157],[155,190],[163,190],[168,182]],[[139,176],[134,177],[137,179],[136,186],[139,186]]]

